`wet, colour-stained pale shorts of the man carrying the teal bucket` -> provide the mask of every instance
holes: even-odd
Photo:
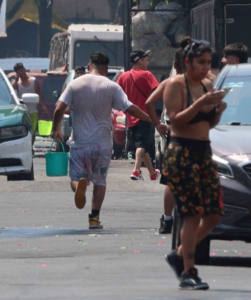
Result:
[[[112,148],[107,146],[88,146],[70,148],[69,175],[71,181],[86,178],[88,185],[106,186],[106,177],[111,162]]]

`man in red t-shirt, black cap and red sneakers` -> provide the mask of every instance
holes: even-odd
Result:
[[[121,74],[117,83],[122,87],[130,101],[147,113],[146,100],[150,92],[159,85],[155,76],[147,70],[149,51],[135,49],[130,54],[132,69]],[[151,124],[127,114],[127,127],[132,133],[135,153],[135,168],[131,173],[132,180],[144,180],[140,170],[142,161],[149,170],[151,180],[157,180],[160,170],[154,169],[148,154],[148,139]]]

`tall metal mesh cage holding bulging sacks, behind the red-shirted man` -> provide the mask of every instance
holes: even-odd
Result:
[[[125,69],[131,67],[132,49],[151,50],[148,69],[161,80],[169,76],[180,41],[190,35],[190,10],[164,1],[154,8],[141,7],[129,0],[124,4]]]

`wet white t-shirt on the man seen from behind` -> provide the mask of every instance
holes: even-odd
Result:
[[[105,76],[85,74],[71,81],[59,101],[73,106],[71,147],[112,147],[111,110],[125,111],[133,103],[123,89]]]

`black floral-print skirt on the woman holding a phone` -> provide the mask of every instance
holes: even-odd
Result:
[[[162,173],[180,217],[223,214],[222,189],[209,140],[172,137]]]

